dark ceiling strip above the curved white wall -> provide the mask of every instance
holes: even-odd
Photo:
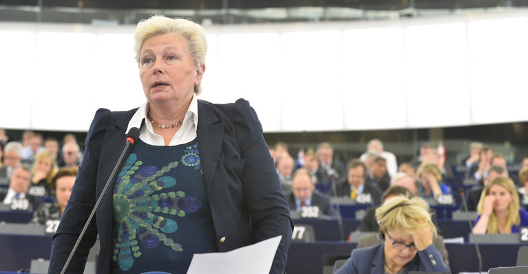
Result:
[[[0,21],[136,24],[151,14],[215,24],[388,20],[514,10],[528,0],[0,0]]]

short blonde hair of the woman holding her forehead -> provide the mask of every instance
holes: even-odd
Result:
[[[429,205],[423,198],[409,199],[405,196],[394,196],[376,209],[376,219],[381,231],[401,229],[405,233],[414,234],[423,227],[429,226],[432,233],[436,234]]]

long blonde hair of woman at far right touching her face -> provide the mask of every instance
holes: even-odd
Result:
[[[508,205],[508,215],[506,217],[506,227],[505,229],[509,231],[511,227],[514,225],[520,224],[520,216],[519,216],[519,196],[517,194],[517,190],[515,188],[514,181],[511,181],[511,179],[507,177],[497,177],[493,179],[493,181],[487,183],[485,186],[482,194],[481,194],[481,200],[478,201],[477,210],[478,213],[482,214],[484,209],[484,198],[489,195],[489,190],[494,185],[500,185],[501,187],[504,187],[511,196],[513,196],[514,200],[511,201]],[[495,210],[492,212],[492,215],[489,216],[489,222],[487,222],[487,232],[489,234],[498,233],[498,218],[495,214]]]

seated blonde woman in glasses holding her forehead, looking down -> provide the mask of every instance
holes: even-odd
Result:
[[[354,249],[337,274],[450,271],[433,245],[436,228],[422,198],[390,198],[376,209],[376,218],[384,242]]]

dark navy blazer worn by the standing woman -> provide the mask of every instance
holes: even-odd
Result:
[[[125,130],[136,110],[96,112],[70,201],[52,239],[49,273],[61,271],[96,197],[125,148]],[[218,251],[231,251],[282,235],[270,273],[283,273],[293,222],[255,111],[242,99],[234,104],[198,100],[198,117],[200,160]],[[111,179],[109,190],[114,189],[115,181],[116,176]],[[97,273],[109,273],[112,212],[112,191],[108,191],[67,273],[83,273],[97,234],[101,242]]]

